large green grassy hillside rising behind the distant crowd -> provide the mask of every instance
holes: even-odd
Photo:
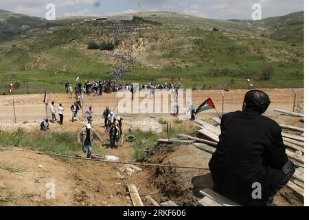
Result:
[[[212,89],[236,89],[248,88],[247,78],[251,78],[253,87],[304,87],[303,43],[275,41],[248,32],[213,32],[212,28],[196,28],[194,23],[184,25],[192,17],[187,21],[182,17],[181,25],[166,24],[177,19],[158,17],[151,20],[165,25],[145,20],[78,22],[41,30],[27,39],[5,41],[0,44],[0,92],[11,82],[21,84],[16,92],[27,92],[30,84],[30,92],[37,93],[63,91],[65,82],[75,83],[77,76],[83,81],[109,79],[105,73],[120,63],[113,56],[117,52],[135,56],[123,83],[174,80],[185,87],[205,84]],[[244,21],[222,22],[247,27],[242,25]],[[263,25],[271,27],[277,22],[267,20]],[[115,37],[119,45],[114,52],[87,50],[89,41],[114,41]]]

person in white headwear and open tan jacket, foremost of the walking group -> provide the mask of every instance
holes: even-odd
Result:
[[[91,124],[87,124],[77,135],[78,144],[82,144],[82,152],[87,151],[87,158],[91,158],[93,136],[98,137],[103,144],[102,137],[91,127]]]

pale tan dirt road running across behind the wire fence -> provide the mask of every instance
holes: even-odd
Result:
[[[273,116],[279,115],[278,113],[273,112],[273,109],[286,109],[293,110],[293,99],[294,94],[291,89],[262,89],[271,98],[271,106],[269,107],[266,115]],[[297,102],[301,107],[299,110],[303,111],[304,107],[304,89],[296,89],[297,91]],[[242,100],[244,94],[247,90],[231,90],[229,92],[225,91],[225,101],[224,101],[224,112],[236,111],[242,108]],[[43,120],[46,117],[45,104],[43,102],[43,94],[36,95],[19,95],[15,96],[14,106],[16,113],[17,122],[38,122]],[[217,107],[219,113],[222,113],[222,94],[221,91],[211,90],[211,91],[193,91],[192,100],[194,106],[197,108],[207,98],[211,98],[214,101],[214,104]],[[172,118],[170,113],[172,113],[173,102],[170,100],[161,101],[161,109],[163,107],[168,107],[169,113],[156,113],[157,118]],[[0,96],[0,123],[1,122],[13,122],[14,121],[14,111],[13,111],[13,96]],[[49,102],[55,101],[56,108],[59,103],[62,103],[62,106],[65,108],[65,121],[70,120],[71,111],[69,107],[73,104],[74,100],[70,100],[66,94],[51,94]],[[140,100],[141,104],[143,100]],[[185,100],[184,100],[185,102]],[[130,103],[130,100],[129,102]],[[102,112],[106,106],[109,106],[111,110],[115,111],[117,114],[117,98],[116,94],[103,94],[103,96],[84,96],[84,111],[86,111],[90,106],[93,107],[95,113],[94,120],[102,120]],[[137,108],[139,106],[137,104]],[[132,104],[133,106],[133,104]],[[183,104],[185,107],[185,103]],[[135,107],[136,108],[136,107]],[[151,108],[150,108],[151,109]],[[135,109],[136,110],[136,109]],[[47,107],[47,115],[50,118],[49,107]],[[154,116],[153,113],[119,113],[124,118],[150,118]],[[217,115],[216,111],[205,111],[200,113],[198,116],[202,118],[208,118],[211,115]],[[78,113],[78,118],[82,120],[82,111]]]

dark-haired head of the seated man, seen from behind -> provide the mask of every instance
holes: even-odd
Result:
[[[268,109],[269,104],[271,104],[271,100],[264,91],[251,90],[244,96],[243,109],[251,109],[262,114]]]

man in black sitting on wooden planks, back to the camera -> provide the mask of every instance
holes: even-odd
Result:
[[[214,191],[242,206],[271,204],[295,172],[282,129],[262,115],[270,103],[266,93],[252,90],[242,111],[222,115],[220,142],[209,162]]]

